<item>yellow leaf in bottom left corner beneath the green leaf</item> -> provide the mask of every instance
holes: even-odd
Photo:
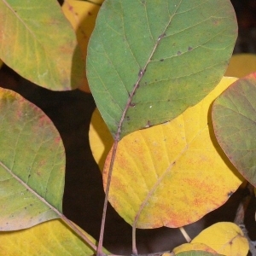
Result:
[[[90,241],[96,243],[91,236],[88,234],[86,236],[90,237]],[[59,219],[39,224],[32,229],[1,232],[0,240],[1,255],[8,256],[84,256],[95,253],[81,241],[79,236],[73,233],[67,224]]]

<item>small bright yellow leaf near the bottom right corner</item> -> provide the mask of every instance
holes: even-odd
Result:
[[[227,256],[246,256],[249,250],[247,239],[234,223],[213,224],[196,236],[191,243],[201,242],[212,247],[217,253]]]

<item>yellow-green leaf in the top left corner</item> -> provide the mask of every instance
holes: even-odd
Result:
[[[84,79],[75,33],[57,1],[0,1],[0,57],[24,78],[50,90]]]

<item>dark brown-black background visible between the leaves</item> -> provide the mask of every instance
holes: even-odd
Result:
[[[236,9],[239,24],[239,37],[234,53],[256,53],[256,0],[231,2]],[[67,152],[63,212],[97,240],[102,221],[104,193],[102,175],[90,152],[88,139],[90,117],[96,108],[92,96],[80,90],[46,90],[21,78],[7,66],[0,69],[0,84],[4,88],[19,92],[41,108],[54,122]],[[204,227],[218,221],[233,221],[237,204],[246,193],[247,191],[239,189],[223,207],[207,214],[198,223],[189,225],[189,235],[194,237]],[[256,240],[253,231],[254,205],[255,201],[252,200],[246,221],[249,235]],[[183,242],[183,236],[176,229],[137,230],[139,253],[171,250]],[[112,253],[131,253],[131,226],[111,206],[108,206],[104,245]]]

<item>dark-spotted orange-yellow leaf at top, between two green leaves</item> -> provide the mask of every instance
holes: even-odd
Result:
[[[100,9],[102,0],[94,0],[93,3],[78,1],[78,0],[65,0],[62,5],[62,11],[70,21],[73,29],[76,32],[79,46],[82,49],[84,61],[87,55],[87,45],[89,42],[90,34],[94,29],[96,16]],[[79,88],[85,92],[90,92],[87,80]]]

